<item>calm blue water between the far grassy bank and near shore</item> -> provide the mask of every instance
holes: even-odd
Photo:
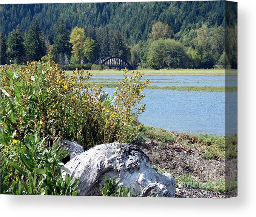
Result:
[[[123,76],[98,75],[93,76],[93,78],[118,79],[123,78]],[[227,76],[226,81],[224,76],[211,75],[145,76],[144,78],[158,79],[162,83],[151,83],[151,85],[157,86],[224,86],[225,83],[228,86],[237,86],[236,76]],[[178,81],[179,83],[167,83],[166,81]],[[104,88],[104,90],[110,94],[114,91],[113,88]],[[237,92],[159,89],[145,89],[143,92],[145,98],[143,98],[142,103],[146,104],[146,110],[140,114],[139,121],[145,125],[191,134],[227,135],[237,132],[236,118],[229,119],[228,127],[226,125],[225,129],[225,109],[228,111],[229,117],[237,117]]]

